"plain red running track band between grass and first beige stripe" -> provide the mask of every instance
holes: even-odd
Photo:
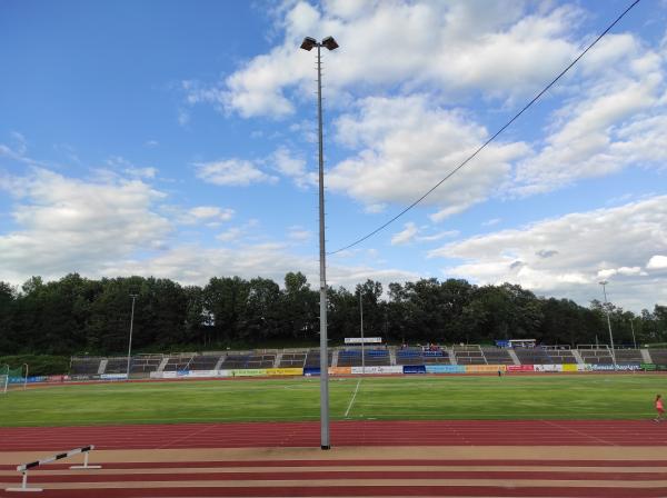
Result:
[[[318,422],[243,422],[0,428],[0,451],[319,447]],[[667,446],[649,420],[337,421],[342,446]]]

